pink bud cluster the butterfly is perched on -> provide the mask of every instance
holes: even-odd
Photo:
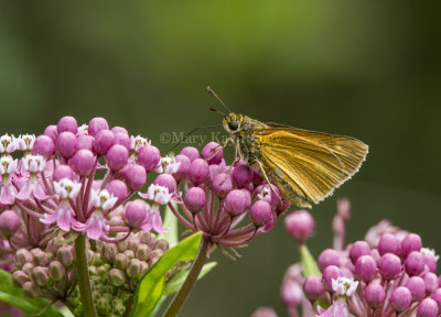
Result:
[[[279,189],[265,184],[257,171],[241,161],[226,165],[218,143],[206,144],[202,153],[184,147],[174,162],[180,164],[174,179],[161,184],[174,188],[176,181],[185,195],[182,212],[169,206],[187,229],[202,231],[211,245],[244,245],[270,230],[289,207]],[[250,221],[240,226],[247,216]]]

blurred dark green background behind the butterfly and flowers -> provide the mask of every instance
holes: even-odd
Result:
[[[2,1],[0,132],[42,133],[94,116],[162,151],[163,132],[220,122],[206,94],[261,121],[348,134],[369,144],[361,172],[313,208],[312,252],[331,247],[337,197],[348,240],[384,218],[440,243],[440,2]],[[220,130],[214,130],[220,131]],[[209,135],[209,134],[207,134]],[[197,144],[196,144],[197,145]],[[182,316],[284,315],[280,283],[298,261],[283,223],[219,253]]]

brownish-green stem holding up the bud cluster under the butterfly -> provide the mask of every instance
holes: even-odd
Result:
[[[173,298],[172,304],[166,309],[164,317],[176,316],[184,305],[186,298],[190,296],[190,293],[197,282],[201,270],[204,266],[208,250],[208,242],[209,241],[207,239],[202,238],[196,260],[194,261],[192,269],[190,269],[189,275],[186,276],[184,284],[182,284],[181,289],[178,292],[176,296]]]

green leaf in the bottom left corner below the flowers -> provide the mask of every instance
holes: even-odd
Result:
[[[15,306],[21,310],[37,315],[43,311],[50,302],[43,298],[29,298],[23,294],[23,289],[18,288],[13,285],[12,276],[10,273],[0,270],[0,302]],[[55,305],[51,305],[50,308],[44,310],[41,317],[63,317],[64,315],[58,310]]]

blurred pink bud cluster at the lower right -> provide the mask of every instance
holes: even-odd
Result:
[[[281,295],[290,316],[298,316],[300,305],[303,316],[439,316],[441,276],[435,275],[434,251],[422,248],[420,236],[386,220],[369,229],[365,240],[342,248],[348,215],[348,201],[338,201],[334,249],[320,254],[320,275],[303,278],[300,264],[288,270]],[[295,226],[287,221],[293,237],[302,226],[311,229],[309,221]],[[305,237],[297,241],[304,243]]]

